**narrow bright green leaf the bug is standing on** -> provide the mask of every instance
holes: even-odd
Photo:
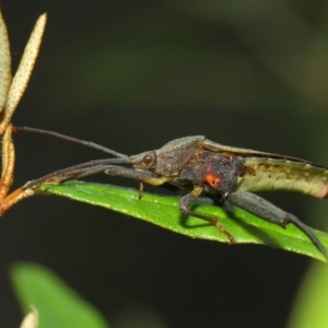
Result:
[[[192,238],[227,243],[226,236],[213,225],[197,218],[183,215],[178,209],[179,200],[176,197],[144,192],[142,199],[139,199],[139,194],[134,189],[84,181],[67,181],[62,185],[44,184],[38,192],[63,196],[101,206]],[[234,236],[236,244],[266,244],[325,261],[324,256],[307,236],[291,224],[286,229],[282,229],[238,208],[227,212],[218,206],[197,203],[192,210],[219,219]],[[314,232],[327,247],[328,235],[319,231]]]

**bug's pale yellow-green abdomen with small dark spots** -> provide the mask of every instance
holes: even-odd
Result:
[[[291,190],[316,198],[328,194],[328,169],[309,163],[261,157],[244,159],[237,190]]]

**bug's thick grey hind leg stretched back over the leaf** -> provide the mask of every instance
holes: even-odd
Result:
[[[247,212],[253,213],[266,221],[281,225],[282,227],[284,227],[289,223],[293,223],[301,231],[303,231],[305,235],[307,235],[311,242],[328,260],[328,251],[325,248],[325,246],[314,235],[309,227],[302,221],[300,221],[300,219],[297,219],[295,215],[283,211],[282,209],[276,207],[271,202],[251,192],[231,192],[225,196],[225,199],[236,204],[237,207],[246,210]]]

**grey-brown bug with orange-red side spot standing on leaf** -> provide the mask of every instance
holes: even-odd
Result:
[[[200,195],[208,195],[221,201],[229,201],[282,227],[293,223],[328,260],[327,249],[300,219],[253,194],[284,189],[320,199],[327,198],[328,169],[323,166],[296,157],[223,145],[203,136],[176,139],[157,150],[128,156],[96,143],[56,132],[27,127],[13,130],[47,133],[86,144],[115,156],[57,171],[27,183],[23,187],[25,189],[35,188],[46,181],[59,184],[101,172],[139,180],[140,196],[142,183],[164,186],[185,194],[179,201],[181,213],[210,222],[227,237],[229,243],[234,243],[234,237],[218,219],[190,210],[190,204]],[[128,164],[130,167],[117,164]]]

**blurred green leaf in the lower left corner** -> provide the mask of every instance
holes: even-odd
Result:
[[[24,313],[37,309],[39,328],[109,327],[91,304],[42,266],[16,263],[11,279]]]

